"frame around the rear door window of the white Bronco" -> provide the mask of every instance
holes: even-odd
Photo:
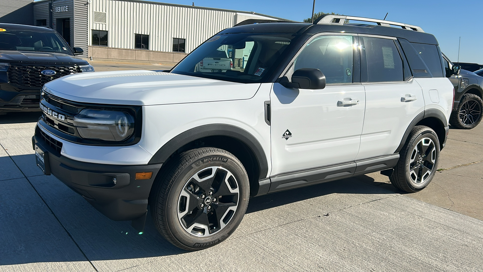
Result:
[[[369,81],[369,76],[368,75],[362,75],[363,74],[362,73],[363,72],[363,68],[362,67],[364,67],[364,65],[365,65],[365,69],[366,70],[368,69],[368,66],[367,66],[367,56],[366,56],[365,51],[359,50],[360,60],[361,60],[361,63],[360,63],[360,67],[361,67],[361,70],[360,70],[361,71],[361,78],[360,78],[361,79],[361,84],[406,83],[406,82],[410,82],[412,80],[412,74],[411,74],[410,69],[409,69],[409,64],[408,64],[408,61],[406,60],[406,55],[404,55],[404,53],[402,51],[402,47],[399,44],[398,38],[391,37],[391,36],[383,36],[383,35],[371,35],[371,34],[357,34],[357,36],[359,38],[368,37],[368,38],[380,38],[380,39],[392,40],[393,43],[394,43],[394,46],[398,50],[399,58],[401,59],[401,62],[402,62],[402,80],[397,80],[397,81],[374,81],[374,82],[371,82],[371,81]],[[365,46],[364,45],[364,39],[359,39],[359,45]],[[367,76],[367,78],[365,76]]]

